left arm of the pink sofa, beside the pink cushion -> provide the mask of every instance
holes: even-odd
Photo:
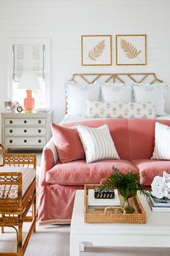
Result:
[[[41,159],[41,172],[39,176],[39,184],[46,185],[46,172],[56,165],[59,161],[59,154],[56,151],[53,138],[48,141],[46,146],[43,148],[43,154]]]

